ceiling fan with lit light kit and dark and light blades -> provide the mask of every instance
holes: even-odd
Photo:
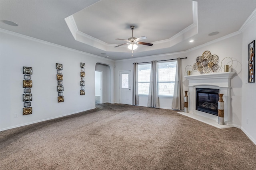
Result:
[[[117,38],[117,40],[127,41],[128,43],[124,43],[124,44],[118,45],[118,46],[116,46],[116,47],[120,47],[120,46],[122,46],[122,45],[130,44],[130,45],[128,46],[128,49],[131,49],[131,50],[132,50],[132,54],[133,54],[133,50],[137,49],[137,47],[138,47],[136,44],[142,44],[142,45],[148,45],[148,46],[152,46],[152,45],[153,45],[153,44],[150,44],[150,43],[144,43],[144,42],[141,42],[141,41],[140,41],[140,40],[142,40],[142,39],[146,39],[147,37],[144,37],[144,36],[138,37],[138,38],[133,37],[133,29],[134,29],[134,26],[130,26],[130,28],[132,29],[132,37],[128,38],[128,40]]]

